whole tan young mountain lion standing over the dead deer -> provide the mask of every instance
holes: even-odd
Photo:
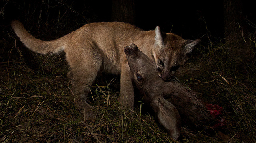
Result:
[[[198,43],[198,41],[188,43],[188,40],[180,36],[162,33],[159,27],[156,27],[156,31],[143,31],[122,22],[86,24],[52,41],[36,39],[17,20],[11,25],[24,45],[32,51],[42,54],[58,54],[62,51],[66,53],[71,69],[68,76],[74,84],[72,91],[78,95],[81,106],[87,105],[89,87],[98,72],[103,70],[112,74],[121,74],[120,103],[125,107],[133,108],[131,72],[123,51],[126,45],[134,43],[143,53],[155,59],[161,69],[159,75],[163,76],[163,80],[168,80],[171,76],[171,67],[177,64],[183,65],[187,60],[186,54]],[[158,58],[163,58],[166,66],[161,67]]]

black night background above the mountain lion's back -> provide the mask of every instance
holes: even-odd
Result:
[[[2,0],[0,16],[4,25],[12,19],[18,19],[26,28],[36,29],[41,34],[50,29],[56,30],[55,33],[66,34],[88,22],[126,22],[124,19],[113,19],[113,15],[116,15],[113,9],[122,9],[118,6],[122,2],[127,6],[132,5],[132,10],[129,9],[120,17],[132,13],[130,23],[144,30],[153,30],[159,25],[162,31],[171,31],[184,39],[203,38],[207,33],[222,39],[226,1]],[[253,5],[240,1],[239,6],[244,24],[253,33],[255,29],[250,26],[255,23]],[[55,36],[53,33],[48,34]]]

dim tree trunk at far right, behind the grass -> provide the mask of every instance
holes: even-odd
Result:
[[[242,0],[224,0],[225,39],[228,50],[234,58],[252,56],[248,46],[248,31],[243,16]]]

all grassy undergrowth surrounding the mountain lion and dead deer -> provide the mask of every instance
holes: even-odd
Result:
[[[76,14],[79,12],[73,12],[79,17]],[[30,14],[24,16],[25,23],[30,24],[25,25],[26,29],[33,35],[40,33],[37,37],[45,40],[90,22],[84,19],[78,23],[76,18],[69,22],[63,16],[58,21],[48,21],[47,14],[46,20],[33,21]],[[74,28],[70,29],[68,24]],[[64,53],[33,53],[22,45],[8,24],[1,24],[1,29],[1,143],[176,142],[158,126],[154,114],[145,110],[142,99],[136,100],[132,115],[118,108],[120,77],[116,75],[103,73],[96,80],[88,102],[96,108],[98,116],[95,121],[86,121],[84,112],[76,108],[72,98]],[[224,125],[211,133],[183,125],[180,142],[256,141],[256,35],[242,31],[240,34],[247,37],[245,44],[250,56],[234,53],[223,39],[209,33],[177,75],[206,104],[221,106],[224,109],[221,118],[225,120]]]

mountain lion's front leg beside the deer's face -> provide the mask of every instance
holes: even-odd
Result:
[[[132,109],[134,104],[134,92],[131,81],[131,71],[128,63],[124,63],[121,68],[121,89],[120,89],[120,103],[123,108]]]

